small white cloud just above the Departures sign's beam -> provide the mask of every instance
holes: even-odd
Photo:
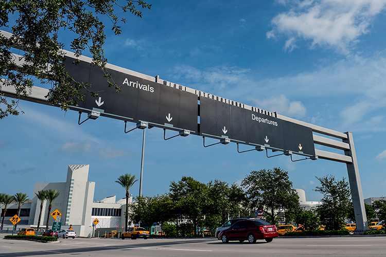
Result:
[[[307,112],[302,102],[291,102],[285,95],[272,96],[264,100],[254,99],[254,102],[256,102],[257,107],[290,117],[302,118]]]

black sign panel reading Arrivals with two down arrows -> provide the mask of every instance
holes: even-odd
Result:
[[[90,83],[90,90],[98,93],[95,98],[86,91],[85,101],[79,102],[79,107],[97,108],[103,110],[101,115],[110,114],[122,120],[197,133],[197,95],[110,69],[111,79],[121,87],[117,93],[108,86],[99,67],[82,61],[74,65],[73,61],[67,58],[65,62],[68,74],[79,82]]]

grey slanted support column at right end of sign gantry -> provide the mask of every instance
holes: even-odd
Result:
[[[353,158],[352,163],[347,163],[348,182],[350,183],[351,195],[353,198],[355,222],[357,223],[358,231],[367,231],[369,229],[367,225],[366,210],[364,209],[364,200],[362,193],[362,185],[359,177],[359,169],[357,162],[357,155],[354,148],[353,133],[346,132],[347,139],[343,142],[350,145],[350,150],[344,151],[344,154]]]

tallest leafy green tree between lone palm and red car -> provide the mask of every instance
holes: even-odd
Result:
[[[202,221],[203,204],[207,196],[206,185],[192,177],[183,176],[178,182],[170,182],[169,191],[179,212],[193,222],[194,233],[197,235],[197,226]]]

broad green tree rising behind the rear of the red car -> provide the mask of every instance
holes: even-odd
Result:
[[[275,224],[275,217],[280,212],[300,205],[299,196],[292,188],[288,172],[280,168],[252,171],[242,180],[241,186],[247,188],[250,208],[264,208],[272,224]]]

